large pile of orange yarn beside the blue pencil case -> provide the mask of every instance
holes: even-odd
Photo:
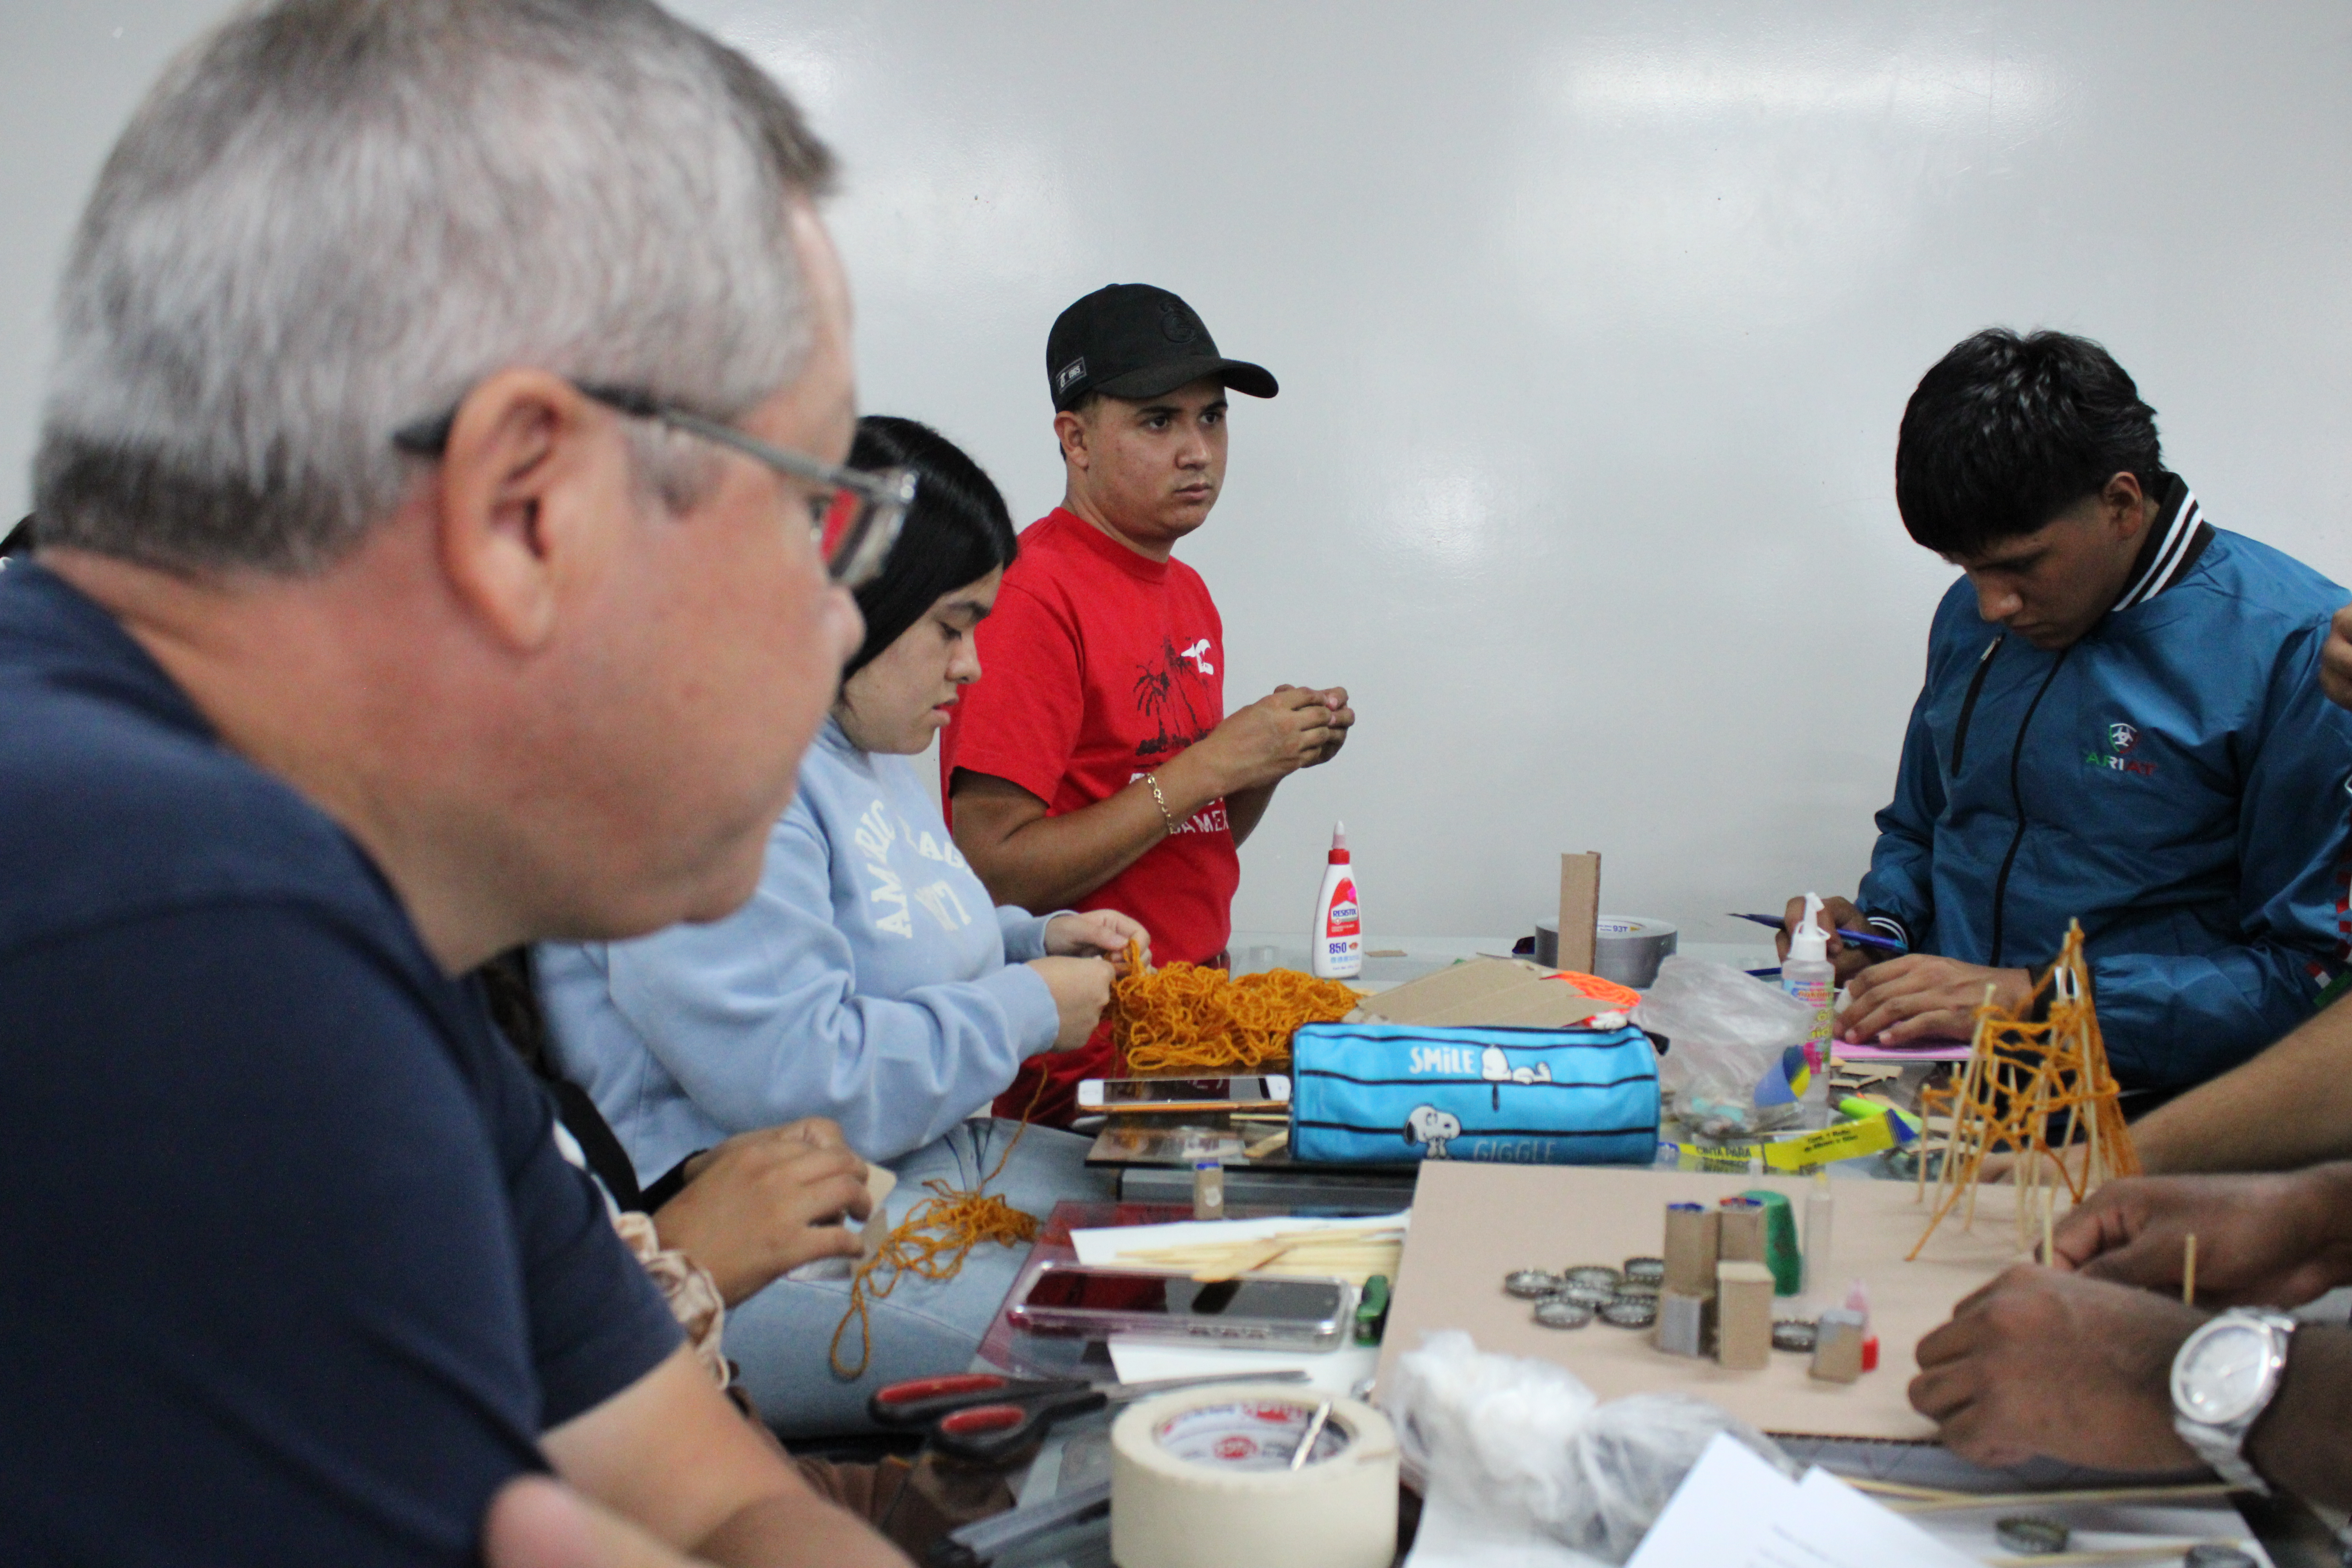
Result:
[[[1127,973],[1110,985],[1110,1039],[1138,1077],[1251,1072],[1291,1056],[1291,1030],[1336,1023],[1357,997],[1338,980],[1296,969],[1225,976],[1223,969],[1169,964],[1143,969],[1134,943]]]

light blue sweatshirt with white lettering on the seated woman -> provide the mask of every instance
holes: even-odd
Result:
[[[640,1180],[797,1117],[833,1117],[884,1161],[1054,1044],[1054,994],[1025,969],[1047,919],[995,907],[913,764],[828,719],[748,905],[630,943],[546,945],[539,987],[562,1074]]]

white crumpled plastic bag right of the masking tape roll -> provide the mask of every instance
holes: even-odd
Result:
[[[1771,1439],[1703,1399],[1599,1403],[1550,1361],[1479,1354],[1458,1331],[1397,1356],[1385,1403],[1423,1479],[1406,1568],[1623,1563],[1717,1432],[1797,1474]]]

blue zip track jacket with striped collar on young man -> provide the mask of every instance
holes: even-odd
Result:
[[[2204,524],[2171,482],[2133,583],[2056,654],[1936,609],[1860,905],[1915,952],[2039,966],[2079,917],[2107,1058],[2183,1088],[2310,1018],[2352,922],[2352,715],[2319,691],[2352,595]]]

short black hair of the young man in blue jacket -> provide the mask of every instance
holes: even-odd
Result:
[[[1929,550],[1983,555],[2129,473],[2164,496],[2157,411],[2124,367],[2065,331],[1978,331],[1919,378],[1896,440],[1896,510]]]

